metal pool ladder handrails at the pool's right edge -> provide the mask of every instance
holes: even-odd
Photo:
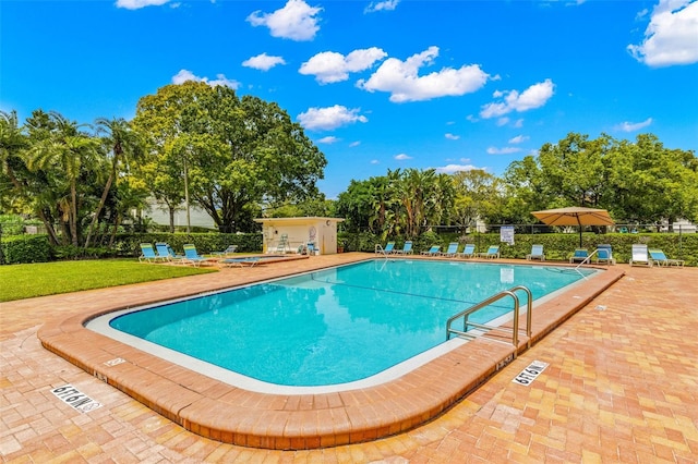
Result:
[[[458,337],[462,337],[468,340],[473,340],[481,335],[486,334],[486,332],[490,332],[490,331],[506,332],[506,333],[510,332],[512,344],[514,345],[514,357],[516,357],[518,346],[519,346],[519,307],[520,307],[519,297],[516,295],[516,292],[519,290],[526,292],[526,295],[527,295],[526,337],[528,338],[528,341],[526,344],[527,344],[527,347],[530,349],[531,347],[531,313],[533,308],[533,295],[531,294],[531,291],[524,285],[516,285],[510,288],[509,290],[500,292],[496,295],[490,296],[489,298],[478,303],[477,305],[471,306],[468,309],[462,310],[449,317],[448,321],[446,322],[446,340],[450,340],[452,334],[456,334]],[[514,300],[514,321],[513,321],[514,327],[513,328],[509,329],[509,328],[498,327],[498,326],[488,326],[486,323],[472,322],[468,320],[468,317],[471,314],[486,306],[490,306],[492,303],[495,303],[506,296],[510,296]],[[453,322],[460,318],[462,318],[464,320],[462,330],[453,329],[450,327]],[[474,328],[479,330],[477,332],[476,331],[468,332],[469,328]],[[497,339],[493,339],[493,340],[500,341]]]

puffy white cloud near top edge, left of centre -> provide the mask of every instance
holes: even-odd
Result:
[[[315,38],[320,30],[317,14],[322,8],[311,7],[303,0],[288,0],[288,3],[274,13],[262,13],[261,10],[248,16],[253,26],[266,26],[273,37],[302,41]]]

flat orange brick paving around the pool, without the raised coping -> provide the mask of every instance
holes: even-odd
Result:
[[[323,258],[323,257],[321,257]],[[329,258],[329,257],[327,257]],[[255,269],[267,278],[305,261]],[[334,261],[351,259],[337,255]],[[318,262],[318,261],[315,261]],[[203,438],[41,347],[48,320],[134,288],[149,297],[240,283],[246,269],[0,306],[3,462],[696,462],[698,269],[616,266],[626,276],[435,419],[381,440],[258,450]],[[251,270],[250,270],[251,271]],[[107,292],[107,293],[105,293]],[[550,363],[530,386],[512,379]],[[51,388],[104,403],[81,414]]]

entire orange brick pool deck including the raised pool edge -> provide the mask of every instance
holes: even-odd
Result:
[[[537,343],[500,370],[491,365],[507,356],[506,345],[477,341],[386,386],[332,395],[241,391],[80,332],[88,315],[127,304],[360,257],[311,257],[1,304],[3,462],[696,462],[696,268],[610,267],[606,279],[619,280],[609,290],[597,295],[601,282],[592,279],[537,309]],[[118,388],[41,347],[39,332],[48,346]],[[127,362],[104,365],[115,357]],[[529,386],[512,382],[533,361],[550,366]],[[104,406],[72,410],[50,392],[67,383]],[[364,442],[383,431],[386,438]],[[243,439],[245,447],[218,441]],[[250,448],[315,445],[332,448]]]

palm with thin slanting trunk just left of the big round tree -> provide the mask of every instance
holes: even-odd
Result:
[[[99,205],[97,206],[93,215],[92,222],[87,231],[87,237],[85,239],[85,248],[89,246],[95,227],[99,221],[99,215],[105,207],[107,196],[109,195],[111,185],[113,184],[113,181],[117,176],[117,171],[122,163],[128,164],[129,160],[141,159],[145,152],[143,142],[139,137],[137,133],[133,131],[131,124],[123,118],[112,120],[99,118],[96,121],[96,125],[97,133],[104,134],[101,143],[108,150],[108,156],[110,156],[111,158],[111,169],[109,171],[109,178],[107,179],[105,188],[101,193]]]

